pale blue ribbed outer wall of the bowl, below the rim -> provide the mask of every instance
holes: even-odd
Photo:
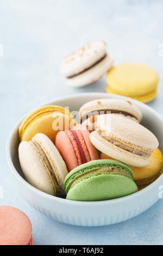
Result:
[[[17,184],[17,187],[28,204],[54,221],[95,227],[129,220],[149,209],[159,199],[158,188],[163,184],[162,176],[156,184],[151,185],[152,187],[148,186],[145,190],[130,196],[91,203],[60,199],[38,190],[35,193],[35,188],[29,193],[28,186],[20,184]],[[15,182],[17,183],[17,180]]]

